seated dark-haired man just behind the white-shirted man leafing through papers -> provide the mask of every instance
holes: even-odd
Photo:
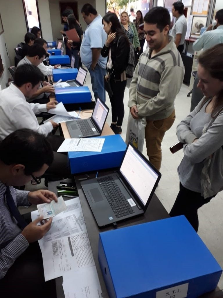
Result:
[[[27,55],[19,61],[17,67],[23,64],[32,64],[38,66],[41,62],[43,62],[45,56],[45,49],[39,44],[34,44],[33,46],[29,47]],[[54,93],[54,88],[50,83],[45,82],[45,78],[43,77],[39,88],[32,95],[29,101],[32,101],[32,103],[47,103],[49,101],[48,97],[51,93]]]

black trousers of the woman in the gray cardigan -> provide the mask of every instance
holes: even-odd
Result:
[[[213,195],[212,197],[205,199],[200,193],[189,190],[183,187],[180,183],[180,191],[171,211],[169,212],[169,215],[171,217],[184,215],[197,232],[199,225],[197,210],[204,204],[209,203],[215,196],[216,195]]]

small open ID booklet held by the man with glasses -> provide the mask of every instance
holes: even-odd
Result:
[[[43,216],[43,219],[54,217],[60,212],[67,209],[67,206],[64,202],[62,196],[58,197],[58,202],[51,201],[50,203],[38,204],[37,209],[39,211],[40,216]]]

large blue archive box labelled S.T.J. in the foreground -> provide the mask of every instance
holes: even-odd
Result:
[[[100,233],[98,260],[112,298],[195,298],[222,274],[184,216]]]

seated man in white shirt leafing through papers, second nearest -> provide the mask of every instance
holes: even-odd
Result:
[[[55,100],[47,104],[28,103],[25,97],[32,97],[38,90],[40,81],[43,80],[42,72],[33,65],[24,64],[15,71],[14,83],[0,92],[0,140],[20,128],[31,128],[45,136],[59,125],[52,120],[39,125],[35,114],[55,108]],[[70,171],[67,156],[56,152],[64,138],[61,136],[48,136],[54,150],[54,162],[47,173],[60,177],[69,177]]]

